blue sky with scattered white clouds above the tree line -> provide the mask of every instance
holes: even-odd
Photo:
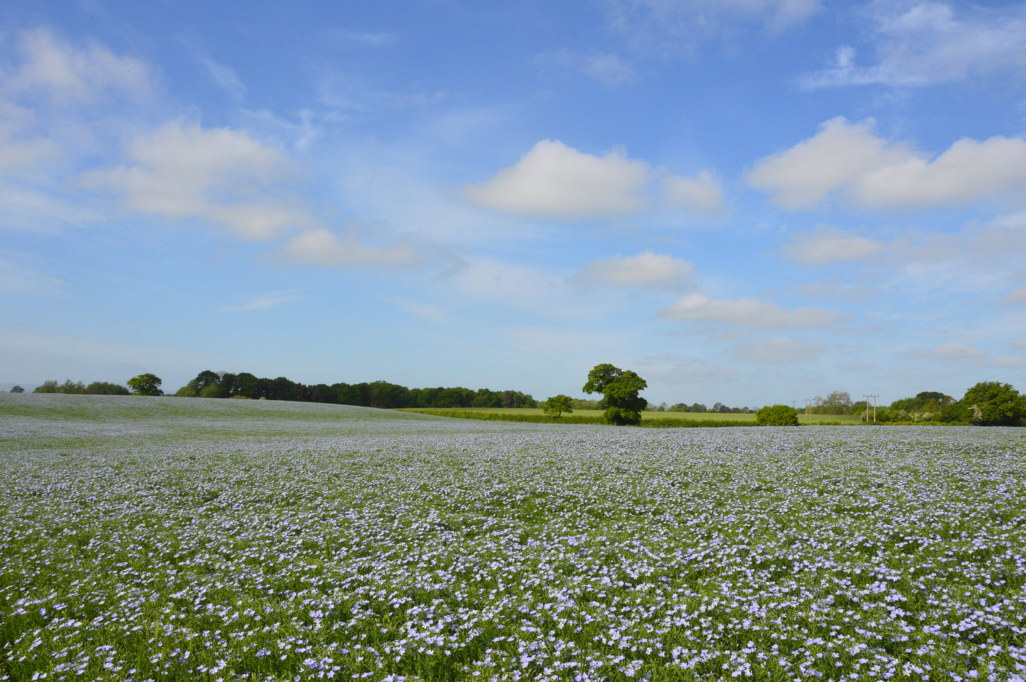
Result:
[[[0,7],[0,388],[1026,390],[1026,4]]]

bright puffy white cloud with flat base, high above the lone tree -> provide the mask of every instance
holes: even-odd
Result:
[[[576,220],[642,210],[648,166],[623,154],[597,157],[543,139],[491,179],[464,188],[486,208],[524,217]]]

